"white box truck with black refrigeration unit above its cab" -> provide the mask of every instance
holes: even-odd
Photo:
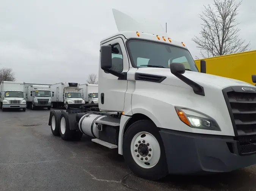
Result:
[[[76,108],[85,104],[79,92],[79,83],[61,82],[50,85],[50,90],[55,92],[52,97],[52,108],[63,107]]]

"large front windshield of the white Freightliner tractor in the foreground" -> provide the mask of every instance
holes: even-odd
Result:
[[[128,48],[131,59],[138,68],[170,68],[170,63],[179,62],[185,65],[186,70],[198,72],[187,49],[144,40],[129,40]]]

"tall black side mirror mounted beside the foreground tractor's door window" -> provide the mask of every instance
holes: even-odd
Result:
[[[101,69],[112,67],[112,47],[110,45],[101,46]]]

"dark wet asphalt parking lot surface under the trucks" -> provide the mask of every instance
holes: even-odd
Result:
[[[140,179],[116,150],[93,143],[90,137],[65,142],[53,136],[48,119],[47,110],[0,111],[0,190],[256,190],[255,166],[211,176]]]

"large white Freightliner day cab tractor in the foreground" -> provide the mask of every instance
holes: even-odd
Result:
[[[117,148],[149,180],[255,164],[256,87],[204,73],[204,61],[198,72],[183,42],[113,14],[119,33],[101,41],[99,105],[51,111],[52,134]]]

